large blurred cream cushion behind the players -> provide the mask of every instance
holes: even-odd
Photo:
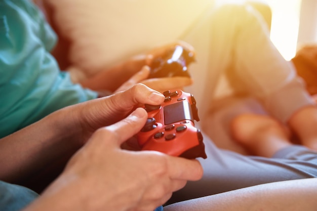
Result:
[[[212,0],[49,0],[70,61],[97,71],[178,39]]]

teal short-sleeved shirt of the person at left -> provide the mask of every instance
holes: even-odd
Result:
[[[31,1],[0,1],[0,138],[97,97],[60,71],[50,54],[55,43],[56,34]]]

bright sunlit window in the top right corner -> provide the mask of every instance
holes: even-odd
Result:
[[[317,43],[316,0],[265,0],[272,10],[271,39],[285,59]]]

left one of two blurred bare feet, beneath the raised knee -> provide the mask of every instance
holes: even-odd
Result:
[[[253,155],[271,157],[280,149],[292,145],[286,127],[266,115],[240,115],[233,119],[231,131],[233,139]]]

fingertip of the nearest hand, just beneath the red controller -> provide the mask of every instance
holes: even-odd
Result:
[[[171,179],[196,181],[203,177],[203,167],[198,160],[172,156],[169,162]]]

